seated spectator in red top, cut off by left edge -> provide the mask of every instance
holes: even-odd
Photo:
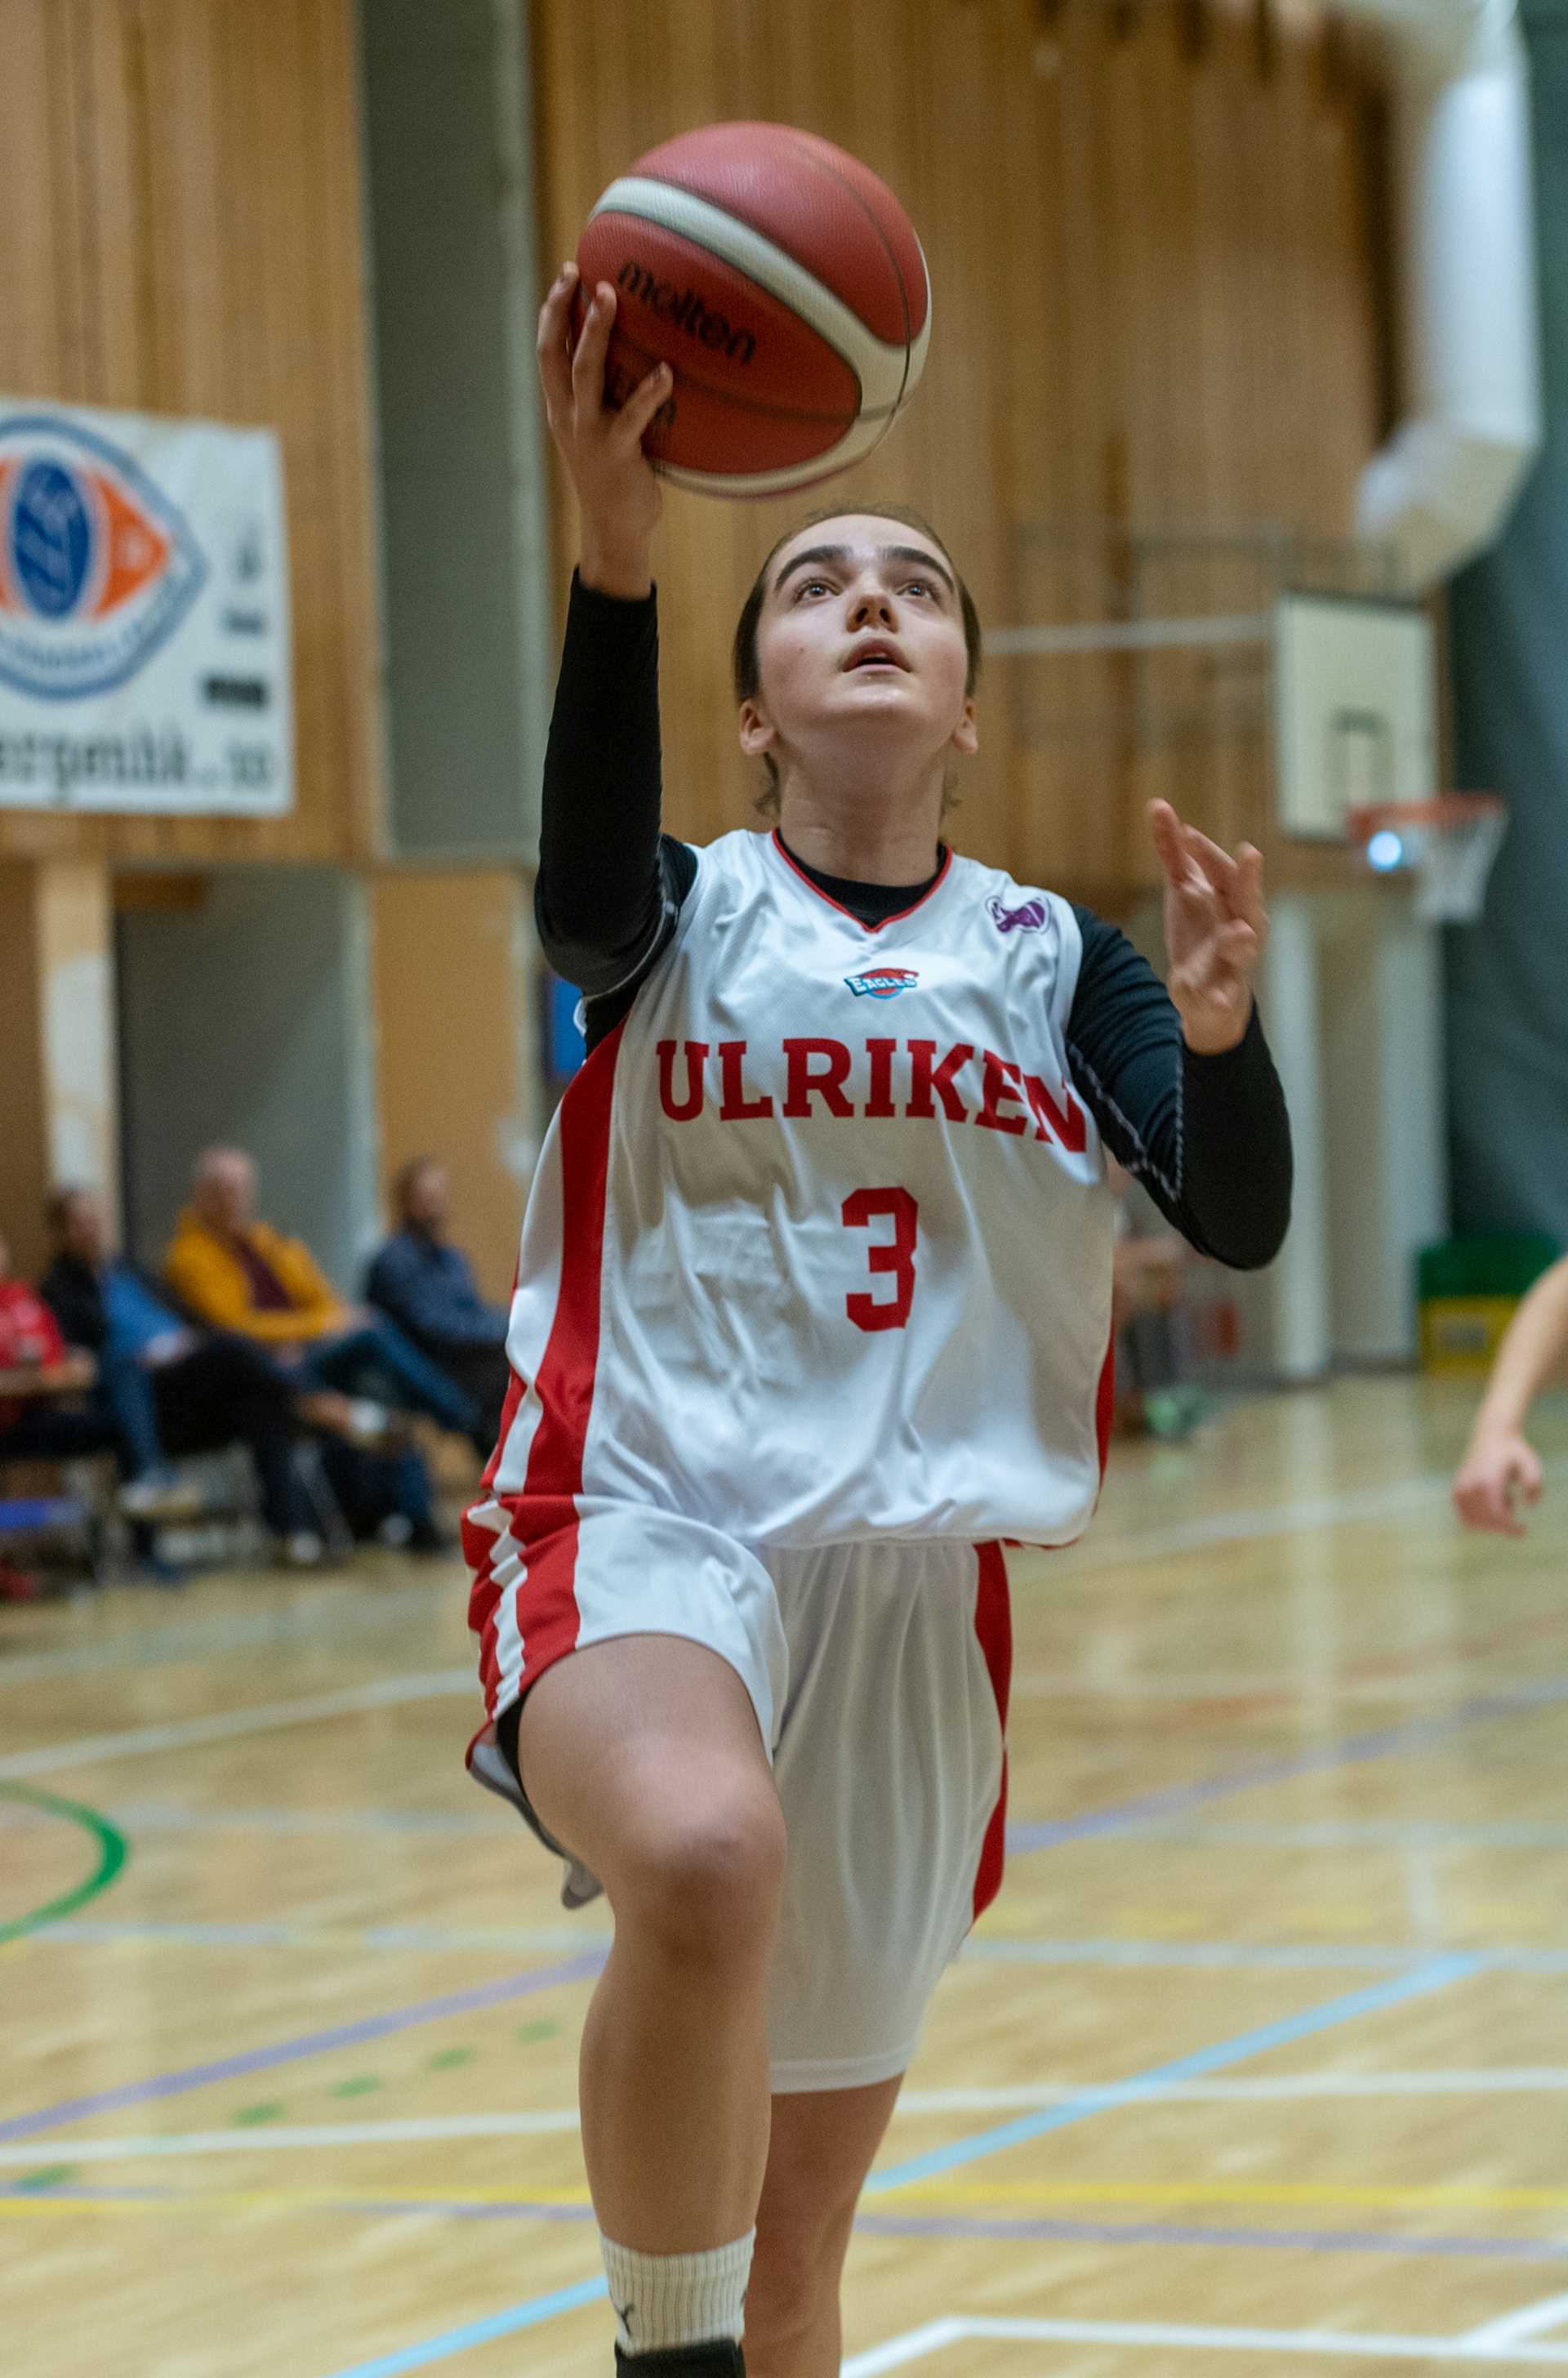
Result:
[[[128,1365],[71,1351],[43,1298],[12,1279],[12,1251],[0,1239],[0,1462],[112,1453],[128,1520],[185,1517],[190,1496],[169,1479],[140,1417]]]

